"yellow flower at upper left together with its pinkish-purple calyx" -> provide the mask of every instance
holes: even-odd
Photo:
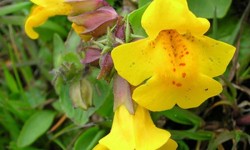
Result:
[[[56,15],[68,16],[73,22],[72,28],[83,39],[88,39],[92,33],[95,33],[95,35],[99,33],[98,36],[100,33],[105,33],[107,27],[113,25],[118,16],[114,9],[109,7],[104,0],[31,1],[36,5],[25,22],[25,31],[32,39],[39,37],[34,28],[45,23],[49,17]]]

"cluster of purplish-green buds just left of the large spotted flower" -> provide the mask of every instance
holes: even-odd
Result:
[[[93,65],[100,67],[100,73],[97,76],[97,79],[105,79],[110,81],[114,75],[114,65],[111,58],[111,50],[125,43],[125,22],[121,17],[118,17],[116,25],[110,29],[108,28],[106,36],[89,40],[85,42],[83,48],[84,58],[82,63],[85,65]],[[103,32],[104,30],[98,29],[98,33]]]

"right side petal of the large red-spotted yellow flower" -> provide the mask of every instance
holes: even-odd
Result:
[[[235,47],[206,36],[189,40],[187,47],[198,54],[200,72],[210,77],[223,74],[235,52]]]

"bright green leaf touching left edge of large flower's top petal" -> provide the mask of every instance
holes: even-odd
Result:
[[[145,37],[147,36],[145,30],[141,26],[141,18],[142,18],[144,11],[148,7],[148,5],[149,5],[149,3],[144,5],[143,7],[139,8],[139,9],[133,11],[132,13],[130,13],[128,15],[129,23],[133,29],[134,34],[136,34],[136,35],[141,35],[141,36],[145,36]]]

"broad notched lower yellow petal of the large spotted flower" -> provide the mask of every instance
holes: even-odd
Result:
[[[155,76],[134,90],[133,99],[152,111],[171,109],[175,104],[187,109],[199,106],[222,91],[220,83],[202,74],[179,85],[172,81],[171,78]]]

